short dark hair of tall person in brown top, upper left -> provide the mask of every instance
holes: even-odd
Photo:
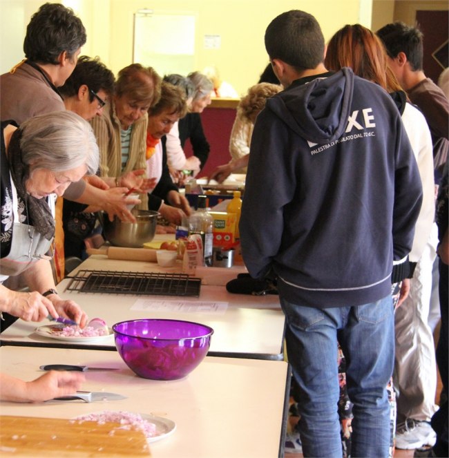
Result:
[[[73,10],[45,3],[28,23],[23,51],[30,61],[57,65],[62,52],[71,59],[85,43],[86,29]]]

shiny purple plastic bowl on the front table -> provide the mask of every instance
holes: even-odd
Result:
[[[201,363],[213,329],[180,320],[140,319],[113,325],[115,346],[128,368],[144,379],[182,379]]]

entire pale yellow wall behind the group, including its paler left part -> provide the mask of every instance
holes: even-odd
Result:
[[[0,72],[23,57],[23,37],[42,0],[0,0]],[[300,8],[321,23],[325,39],[346,23],[371,16],[372,0],[63,0],[82,19],[88,41],[82,53],[99,55],[117,73],[133,59],[133,14],[140,8],[198,15],[195,64],[192,70],[215,65],[239,94],[255,84],[268,63],[263,36],[269,21],[281,12]],[[204,35],[220,35],[221,48],[204,49]],[[150,64],[150,63],[149,63]],[[157,70],[157,68],[156,68]]]

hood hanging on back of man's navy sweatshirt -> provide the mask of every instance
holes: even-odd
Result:
[[[353,89],[354,73],[345,67],[329,77],[293,82],[268,99],[266,108],[305,140],[326,144],[337,140],[345,131]]]

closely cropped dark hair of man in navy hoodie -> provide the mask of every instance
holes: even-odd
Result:
[[[283,12],[265,31],[270,60],[280,59],[298,70],[316,68],[324,59],[325,41],[318,21],[300,10]]]

